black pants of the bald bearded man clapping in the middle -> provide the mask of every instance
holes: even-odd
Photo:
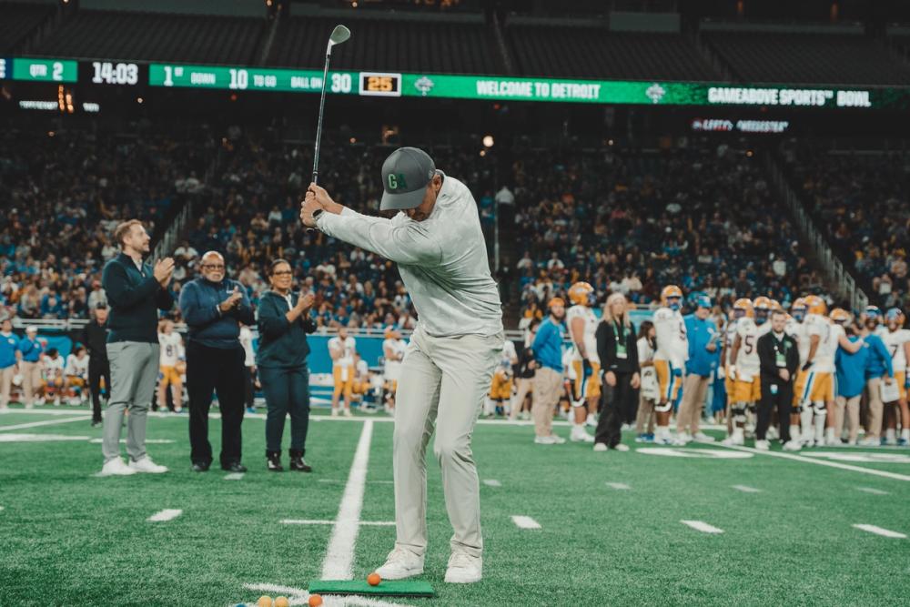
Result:
[[[212,406],[213,389],[221,410],[221,466],[240,461],[244,358],[240,344],[231,349],[208,348],[190,340],[187,345],[189,458],[193,463],[212,462],[208,410]]]

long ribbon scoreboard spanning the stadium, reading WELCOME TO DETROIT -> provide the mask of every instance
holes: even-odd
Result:
[[[0,79],[92,86],[181,87],[319,93],[322,71],[116,60],[0,58]],[[731,83],[329,72],[333,95],[550,101],[648,106],[783,106],[906,109],[910,87],[734,85]]]

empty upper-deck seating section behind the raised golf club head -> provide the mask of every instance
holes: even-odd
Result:
[[[321,67],[337,19],[294,17],[282,22],[268,64]],[[443,74],[502,73],[499,53],[482,24],[350,20],[349,42],[332,54],[335,69]]]

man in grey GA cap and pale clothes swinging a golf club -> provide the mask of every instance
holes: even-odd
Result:
[[[499,290],[490,276],[477,205],[430,156],[401,147],[382,165],[381,210],[360,215],[311,184],[300,219],[399,265],[419,321],[401,363],[395,405],[395,549],[376,570],[386,580],[423,572],[427,550],[425,452],[434,426],[446,510],[455,533],[446,582],[479,582],[480,488],[470,438],[502,351]],[[438,422],[438,423],[437,423]]]

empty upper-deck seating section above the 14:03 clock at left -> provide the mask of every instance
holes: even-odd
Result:
[[[251,65],[264,19],[86,11],[45,39],[36,55]]]

